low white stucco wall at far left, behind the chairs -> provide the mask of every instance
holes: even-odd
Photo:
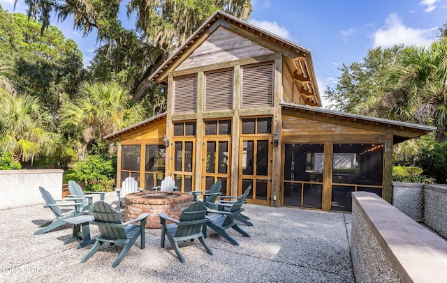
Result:
[[[0,210],[45,204],[39,186],[62,196],[62,169],[0,170]]]

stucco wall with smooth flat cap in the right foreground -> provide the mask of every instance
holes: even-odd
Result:
[[[447,242],[370,192],[353,192],[356,282],[444,282]]]

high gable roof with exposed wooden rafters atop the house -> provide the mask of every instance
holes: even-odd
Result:
[[[249,22],[238,19],[232,15],[217,11],[196,32],[193,33],[173,54],[149,77],[159,84],[166,84],[168,73],[184,61],[196,49],[203,38],[207,38],[219,26],[224,26],[236,33],[249,33],[252,38],[264,43],[277,52],[282,52],[291,65],[293,79],[300,89],[303,100],[307,105],[321,107],[321,98],[316,83],[314,64],[311,51],[285,38],[281,38],[269,31],[254,26]]]

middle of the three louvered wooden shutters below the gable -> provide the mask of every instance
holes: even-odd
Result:
[[[205,110],[233,109],[233,70],[205,75]]]

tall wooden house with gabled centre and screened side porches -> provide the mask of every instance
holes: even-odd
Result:
[[[350,211],[351,192],[391,201],[393,144],[435,128],[321,109],[309,49],[218,11],[149,78],[167,112],[105,139],[117,182],[182,192],[222,181],[251,204]]]

